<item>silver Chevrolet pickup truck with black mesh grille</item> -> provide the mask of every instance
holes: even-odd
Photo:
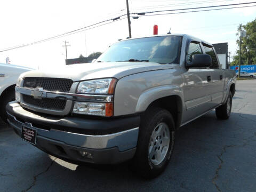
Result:
[[[48,154],[95,164],[132,159],[154,178],[179,127],[213,109],[229,118],[235,84],[210,43],[159,35],[119,41],[93,63],[28,71],[6,110],[14,131]]]

